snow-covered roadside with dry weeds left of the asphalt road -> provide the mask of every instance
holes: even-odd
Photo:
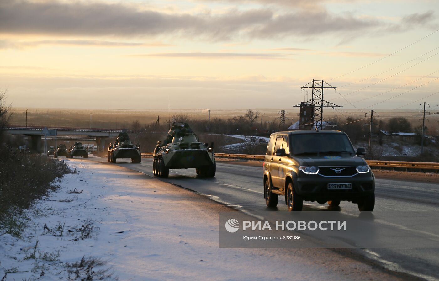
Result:
[[[84,277],[83,257],[120,280],[398,279],[325,249],[219,249],[227,207],[119,166],[66,161],[79,173],[29,210],[25,241],[0,236],[0,273],[16,271],[6,280],[65,280],[67,263],[70,278]]]

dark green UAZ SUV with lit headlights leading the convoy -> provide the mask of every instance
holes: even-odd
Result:
[[[362,212],[373,211],[375,177],[360,157],[365,154],[341,131],[272,133],[263,164],[266,205],[277,206],[282,195],[289,211],[301,211],[303,201],[331,206],[350,201]]]

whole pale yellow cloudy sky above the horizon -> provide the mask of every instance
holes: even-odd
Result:
[[[0,0],[0,89],[15,107],[165,109],[169,94],[173,108],[289,108],[324,79],[346,109],[436,105],[438,13],[437,0]]]

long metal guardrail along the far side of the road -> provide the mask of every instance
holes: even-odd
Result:
[[[142,153],[142,156],[152,156],[152,153]],[[265,155],[250,155],[250,154],[230,154],[230,153],[215,153],[217,157],[232,158],[232,159],[253,159],[253,160],[263,160]],[[367,164],[371,167],[376,167],[379,169],[405,169],[410,170],[430,170],[439,173],[439,163],[435,162],[404,162],[404,161],[381,161],[381,160],[366,160]]]

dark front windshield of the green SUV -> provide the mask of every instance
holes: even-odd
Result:
[[[290,150],[293,155],[355,154],[349,138],[342,133],[290,135]]]

